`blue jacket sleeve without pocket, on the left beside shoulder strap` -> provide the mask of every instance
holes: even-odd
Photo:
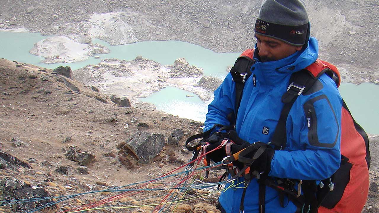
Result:
[[[232,75],[228,74],[225,77],[214,94],[215,99],[208,105],[204,132],[215,124],[230,125],[227,116],[234,111],[235,105],[235,83],[232,81]]]

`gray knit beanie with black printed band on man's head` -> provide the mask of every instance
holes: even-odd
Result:
[[[309,38],[309,19],[302,0],[263,0],[255,33],[301,46]]]

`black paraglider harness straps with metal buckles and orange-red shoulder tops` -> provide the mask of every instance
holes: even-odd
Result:
[[[246,50],[235,62],[234,66],[230,70],[230,74],[233,77],[233,81],[235,82],[236,87],[236,99],[235,99],[235,112],[228,115],[228,120],[230,121],[230,126],[222,126],[216,124],[208,130],[207,132],[200,133],[198,135],[194,135],[186,141],[186,147],[190,151],[193,152],[193,159],[196,159],[199,152],[202,151],[205,153],[207,145],[207,138],[211,135],[212,132],[215,132],[216,128],[219,128],[217,133],[224,133],[225,139],[222,141],[222,146],[229,146],[233,143],[228,139],[227,132],[235,129],[235,121],[236,114],[238,113],[238,108],[240,106],[244,83],[245,81],[251,77],[251,66],[255,63],[253,59],[254,50],[249,49]],[[290,78],[290,85],[288,86],[287,92],[282,96],[282,102],[284,103],[284,107],[281,111],[280,118],[273,134],[273,138],[271,140],[271,145],[274,147],[274,150],[282,150],[286,146],[287,133],[286,133],[286,122],[288,114],[291,110],[293,103],[296,101],[297,97],[301,94],[307,92],[312,86],[316,83],[318,78],[326,73],[337,86],[340,85],[340,76],[337,68],[325,61],[316,60],[315,63],[311,64],[309,67],[305,69],[295,72]],[[253,83],[255,84],[256,78],[255,75],[252,75]],[[343,102],[343,108],[347,109],[345,102]],[[350,113],[350,112],[349,112]],[[350,114],[351,117],[351,114]],[[353,119],[354,121],[354,119]],[[364,130],[354,121],[354,126],[356,131],[362,135],[362,139],[364,139],[364,144],[366,144],[366,156],[365,160],[367,162],[367,167],[370,167],[370,152],[368,150],[368,137]],[[195,146],[189,146],[189,142],[194,139],[202,138],[200,143]],[[345,177],[338,177],[339,175],[332,175],[328,179],[325,180],[293,180],[293,179],[280,179],[274,177],[268,177],[267,174],[262,174],[259,171],[251,171],[251,164],[262,155],[265,149],[268,146],[260,146],[258,144],[262,143],[254,143],[251,146],[241,150],[238,153],[231,153],[227,151],[226,157],[222,160],[222,167],[226,168],[227,172],[221,177],[226,177],[228,174],[231,175],[231,179],[228,182],[232,182],[238,177],[243,176],[245,180],[245,186],[249,184],[249,182],[257,178],[257,182],[259,184],[259,212],[265,212],[265,187],[269,186],[279,192],[280,204],[282,207],[285,206],[284,198],[287,197],[288,200],[293,202],[294,205],[298,207],[298,211],[296,212],[304,212],[304,213],[316,213],[320,206],[332,209],[337,205],[337,203],[341,200],[341,197],[344,193],[345,187],[349,182],[349,177],[346,179]],[[227,150],[227,149],[226,149]],[[230,150],[230,149],[229,149]],[[255,151],[255,154],[251,157],[249,153]],[[249,157],[247,157],[249,156]],[[233,162],[240,161],[244,164],[243,168],[236,168],[233,166]],[[349,172],[351,169],[351,163],[348,163],[349,158],[341,155],[341,165],[340,169],[337,170],[337,173],[346,174],[346,171]],[[208,158],[204,160],[205,165],[210,165],[210,161]],[[344,173],[345,172],[345,173]],[[367,170],[368,173],[368,170]],[[208,177],[209,171],[206,173],[206,177]],[[368,174],[367,174],[368,175]],[[345,175],[346,176],[346,175]],[[334,181],[337,181],[338,184],[337,190],[335,190]],[[327,186],[326,186],[327,185]],[[334,191],[333,193],[330,193]],[[244,196],[246,193],[246,187],[243,190],[243,194],[241,197],[240,203],[240,213],[244,213]],[[327,197],[327,199],[325,199]],[[365,199],[365,198],[363,198]],[[363,203],[364,204],[364,203]]]

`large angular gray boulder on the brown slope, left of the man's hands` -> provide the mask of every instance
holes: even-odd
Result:
[[[138,163],[147,164],[162,151],[165,143],[163,133],[138,132],[119,149],[130,150],[138,158]]]

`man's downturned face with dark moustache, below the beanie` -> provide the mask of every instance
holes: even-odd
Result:
[[[255,34],[255,38],[257,38],[258,55],[262,62],[286,58],[302,48],[302,46],[290,45],[278,39],[258,34]]]

